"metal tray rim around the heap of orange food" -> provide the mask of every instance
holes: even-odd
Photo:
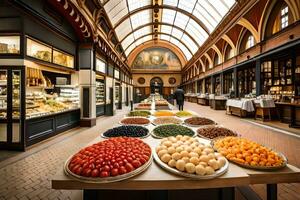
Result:
[[[215,149],[217,152],[219,152],[219,151],[218,151],[217,148],[215,148],[214,143],[217,140],[220,140],[220,139],[223,139],[223,138],[225,138],[225,137],[218,137],[218,138],[215,138],[215,139],[211,140],[211,145],[212,145],[213,149]],[[261,145],[261,146],[263,146],[263,145]],[[238,166],[240,166],[240,167],[244,167],[244,168],[247,168],[247,169],[256,169],[256,170],[265,170],[265,171],[272,171],[272,170],[282,169],[282,168],[286,167],[288,161],[287,161],[287,158],[285,157],[285,155],[283,155],[281,152],[274,151],[271,148],[269,148],[269,149],[271,151],[277,153],[277,155],[282,158],[282,160],[283,160],[282,165],[280,165],[280,166],[271,166],[271,167],[263,167],[263,166],[244,165],[244,164],[241,164],[241,163],[238,163],[238,162],[235,162],[235,161],[231,161],[231,160],[229,160],[229,161],[236,164],[236,165],[238,165]]]

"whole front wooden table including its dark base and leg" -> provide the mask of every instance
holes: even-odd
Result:
[[[91,144],[102,140],[100,137]],[[151,136],[143,139],[153,149],[159,144]],[[205,143],[207,140],[200,139]],[[268,196],[276,199],[276,183],[300,182],[300,170],[288,165],[285,169],[266,172],[241,168],[230,163],[228,171],[211,180],[192,180],[176,176],[160,168],[155,161],[142,174],[114,183],[83,183],[64,174],[61,168],[52,179],[53,189],[83,190],[84,199],[180,199],[182,196],[206,195],[213,199],[234,199],[234,187],[249,184],[268,185]],[[181,194],[181,195],[180,195]]]

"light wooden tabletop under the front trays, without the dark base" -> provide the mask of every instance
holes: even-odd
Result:
[[[153,129],[153,125],[150,125]],[[103,140],[98,137],[90,144]],[[143,139],[152,148],[159,144],[159,139],[149,136]],[[200,142],[209,143],[208,140],[199,138]],[[70,155],[71,156],[71,155]],[[153,160],[149,168],[140,175],[131,179],[114,183],[84,183],[72,179],[64,174],[63,166],[52,179],[53,189],[114,189],[114,190],[175,190],[175,189],[205,189],[234,187],[249,184],[263,183],[284,183],[300,182],[300,169],[288,165],[286,168],[278,171],[256,171],[241,168],[230,163],[228,171],[215,179],[211,180],[192,180],[178,175],[171,174],[162,169]]]

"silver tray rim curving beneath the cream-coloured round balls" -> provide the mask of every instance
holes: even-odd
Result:
[[[163,161],[160,160],[160,158],[158,157],[157,153],[155,152],[155,150],[153,150],[152,152],[153,154],[153,158],[155,160],[155,162],[163,169],[165,169],[166,171],[169,171],[173,174],[176,174],[176,175],[179,175],[179,176],[184,176],[184,177],[187,177],[187,178],[192,178],[192,179],[203,179],[203,180],[207,180],[207,179],[213,179],[213,178],[216,178],[218,176],[221,176],[223,174],[225,174],[228,170],[228,167],[229,167],[229,162],[228,160],[226,159],[226,163],[223,167],[221,167],[220,169],[218,169],[216,171],[216,173],[214,174],[211,174],[211,175],[197,175],[197,174],[189,174],[189,173],[186,173],[186,172],[181,172],[175,168],[172,168],[170,167],[168,164],[164,163]]]

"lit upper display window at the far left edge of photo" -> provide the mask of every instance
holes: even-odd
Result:
[[[0,36],[0,54],[20,54],[20,36]]]

